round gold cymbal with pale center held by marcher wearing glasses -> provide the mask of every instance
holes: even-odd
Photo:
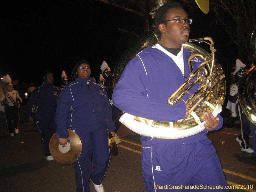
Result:
[[[82,143],[78,135],[68,129],[68,139],[67,147],[62,147],[58,140],[56,140],[56,134],[52,135],[50,140],[50,152],[55,161],[60,164],[71,164],[78,159],[82,151]]]

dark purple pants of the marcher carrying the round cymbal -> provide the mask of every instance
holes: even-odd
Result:
[[[72,129],[74,129],[72,127]],[[75,161],[77,192],[90,192],[90,179],[95,185],[100,185],[108,169],[110,150],[107,128],[93,132],[86,129],[76,129],[76,134],[82,142],[82,152]],[[93,170],[91,171],[91,160]]]

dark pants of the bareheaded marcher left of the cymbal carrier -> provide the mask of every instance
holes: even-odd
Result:
[[[56,123],[55,123],[55,116],[49,117],[45,119],[35,119],[36,127],[38,128],[40,134],[41,134],[41,140],[44,148],[44,155],[50,156],[50,140],[52,138],[52,135],[56,132]]]

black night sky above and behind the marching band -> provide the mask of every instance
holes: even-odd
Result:
[[[118,28],[143,33],[138,16],[101,2],[4,0],[0,6],[0,76],[9,74],[20,83],[41,83],[41,72],[52,69],[54,84],[59,85],[62,70],[69,76],[80,59],[89,61],[92,76],[98,79],[102,62],[113,71],[125,47],[135,39]],[[227,60],[235,62],[230,59],[235,53],[225,31],[212,23],[212,16],[198,7],[190,13],[190,38],[212,37],[216,58],[225,71]]]

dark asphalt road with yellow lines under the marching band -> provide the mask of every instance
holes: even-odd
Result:
[[[1,192],[75,192],[74,164],[47,161],[39,131],[26,117],[26,106],[20,107],[19,134],[9,136],[4,113],[0,111],[0,191]],[[256,192],[256,161],[243,153],[236,137],[240,125],[225,119],[224,127],[210,132],[231,192]],[[145,192],[142,178],[140,136],[124,125],[117,132],[121,139],[119,153],[112,156],[102,184],[106,192]],[[235,189],[239,187],[240,189]],[[248,187],[250,189],[248,189]],[[92,183],[91,191],[95,191]],[[246,189],[242,189],[246,188]],[[218,191],[218,190],[216,190]]]

